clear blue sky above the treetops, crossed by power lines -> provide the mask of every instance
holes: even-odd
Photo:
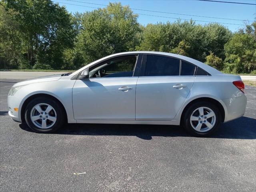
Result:
[[[251,24],[252,23],[251,21],[254,21],[256,18],[256,5],[247,5],[247,4],[207,2],[207,1],[198,1],[198,0],[53,0],[53,1],[59,2],[61,6],[66,6],[66,9],[72,13],[92,11],[95,8],[104,8],[105,6],[95,5],[95,4],[107,5],[109,2],[121,2],[122,5],[129,5],[130,8],[135,8],[135,9],[173,13],[173,14],[168,14],[168,13],[149,12],[149,11],[142,11],[142,10],[133,10],[134,13],[139,14],[138,22],[144,26],[146,26],[148,23],[156,24],[157,22],[167,22],[167,21],[174,22],[177,20],[176,18],[180,18],[180,19],[188,19],[188,20],[190,19],[198,20],[196,21],[196,24],[208,24],[209,22],[226,23],[222,25],[226,26],[232,32],[235,32],[239,28],[244,28],[243,20],[246,20],[246,24],[248,24],[248,21],[249,21],[249,24]],[[218,0],[218,1],[256,4],[256,0]],[[88,3],[94,3],[94,4],[88,4]],[[76,4],[76,5],[71,5],[71,4]],[[85,6],[88,6],[88,7],[85,7]],[[95,8],[90,8],[90,7],[95,7]],[[147,15],[142,15],[142,14],[147,14]],[[179,15],[179,14],[189,14],[194,16]],[[148,15],[154,15],[154,16],[148,16]],[[198,17],[198,16],[215,17],[215,18],[206,18],[206,17]],[[165,18],[165,17],[168,17],[168,18]],[[228,19],[235,19],[235,20],[226,20],[226,19],[220,19],[220,18],[228,18]],[[240,25],[234,25],[234,24],[240,24]]]

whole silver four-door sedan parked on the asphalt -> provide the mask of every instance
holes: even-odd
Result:
[[[73,73],[14,84],[8,114],[35,132],[68,123],[181,125],[208,136],[244,115],[244,83],[192,58],[123,52]]]

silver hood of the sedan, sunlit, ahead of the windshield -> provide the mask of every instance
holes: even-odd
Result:
[[[24,81],[14,84],[13,87],[28,85],[28,84],[32,84],[32,83],[39,83],[39,82],[57,81],[61,78],[61,76],[62,76],[62,74],[56,74],[56,75],[48,75],[48,76],[27,79],[27,80],[24,80]]]

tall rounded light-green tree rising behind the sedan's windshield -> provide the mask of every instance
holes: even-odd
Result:
[[[136,36],[140,32],[137,17],[128,6],[120,3],[84,13],[75,50],[82,55],[84,63],[135,50]]]

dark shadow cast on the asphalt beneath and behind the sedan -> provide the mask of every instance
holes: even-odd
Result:
[[[25,123],[20,124],[20,128],[31,132]],[[191,137],[180,126],[128,124],[68,124],[53,134],[137,136],[144,140],[151,140],[154,136]],[[256,119],[241,117],[224,123],[209,138],[256,139]]]

